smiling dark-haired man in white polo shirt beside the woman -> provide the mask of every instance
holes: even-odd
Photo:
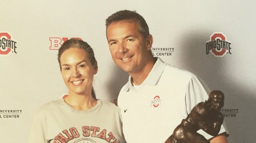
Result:
[[[192,73],[153,57],[153,37],[135,11],[109,16],[106,36],[114,62],[130,75],[118,97],[127,142],[164,142],[198,102],[207,100],[206,90]],[[199,133],[211,142],[227,142],[223,126],[216,137]]]

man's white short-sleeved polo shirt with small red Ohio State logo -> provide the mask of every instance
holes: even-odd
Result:
[[[208,99],[197,77],[164,63],[160,58],[146,80],[134,87],[128,83],[120,90],[123,130],[128,143],[164,142],[193,107]],[[226,132],[224,126],[219,133]],[[207,139],[212,136],[198,133]]]

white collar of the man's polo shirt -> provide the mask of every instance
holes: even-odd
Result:
[[[152,70],[150,71],[149,75],[142,82],[142,85],[151,85],[151,86],[157,85],[157,83],[160,79],[160,76],[162,75],[162,73],[164,71],[165,66],[166,66],[166,63],[163,62],[160,58],[158,58],[154,64]],[[133,87],[131,81],[132,81],[131,76],[129,76],[129,80],[124,88],[125,91],[127,91],[129,88]]]

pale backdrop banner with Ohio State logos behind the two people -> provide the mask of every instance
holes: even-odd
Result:
[[[123,9],[146,19],[155,57],[225,94],[229,142],[255,140],[256,1],[2,0],[0,7],[0,142],[27,142],[36,110],[68,92],[57,54],[69,38],[94,49],[96,96],[117,103],[128,74],[110,56],[105,19]]]

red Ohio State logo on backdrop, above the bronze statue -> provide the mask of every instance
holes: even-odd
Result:
[[[206,54],[212,53],[215,57],[231,55],[231,42],[227,41],[223,33],[215,32],[210,36],[210,41],[206,42]]]

